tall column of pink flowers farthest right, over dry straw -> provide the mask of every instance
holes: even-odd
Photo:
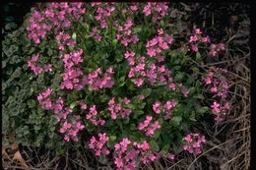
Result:
[[[225,100],[228,90],[228,84],[224,79],[225,74],[226,71],[224,69],[212,67],[205,78],[205,84],[210,87],[210,92],[214,95],[214,102],[211,108],[213,114],[216,115],[216,121],[223,121],[227,111],[230,109],[230,103]]]

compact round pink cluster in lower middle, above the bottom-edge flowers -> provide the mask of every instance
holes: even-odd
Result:
[[[146,136],[154,136],[155,131],[157,129],[160,129],[159,121],[152,122],[153,117],[152,116],[146,116],[145,121],[142,123],[139,123],[138,129],[140,131],[144,131],[146,133]]]

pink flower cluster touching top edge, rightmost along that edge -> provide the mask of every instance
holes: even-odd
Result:
[[[148,2],[143,9],[143,13],[145,14],[145,16],[153,16],[152,20],[154,23],[160,20],[163,16],[166,16],[167,12],[168,3]]]

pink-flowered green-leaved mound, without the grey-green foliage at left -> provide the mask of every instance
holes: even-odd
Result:
[[[47,3],[32,10],[28,74],[42,79],[34,100],[56,118],[56,136],[88,142],[117,169],[174,159],[179,148],[202,152],[205,138],[191,126],[209,111],[202,105],[207,73],[191,61],[222,55],[224,44],[213,45],[199,28],[177,41],[170,5]]]

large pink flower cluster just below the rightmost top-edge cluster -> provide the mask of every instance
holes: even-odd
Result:
[[[147,54],[150,57],[158,56],[159,61],[163,61],[164,57],[159,56],[159,54],[169,48],[173,38],[172,35],[163,33],[162,28],[158,29],[159,35],[155,36],[153,39],[149,40],[146,44]]]

